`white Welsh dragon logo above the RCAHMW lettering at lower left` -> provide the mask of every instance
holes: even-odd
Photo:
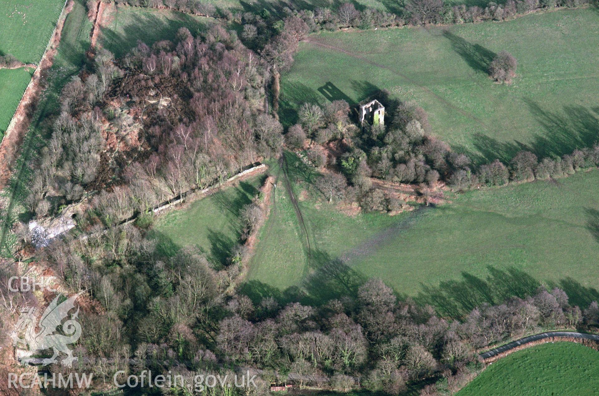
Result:
[[[38,354],[38,352],[52,348],[54,355],[51,358],[44,359],[43,365],[58,363],[56,358],[58,357],[59,352],[62,352],[63,354],[66,354],[66,358],[63,358],[61,362],[62,365],[72,367],[72,363],[77,360],[77,357],[73,357],[71,349],[66,345],[77,342],[81,336],[81,325],[77,320],[79,307],[77,307],[77,312],[71,315],[71,318],[64,323],[62,323],[62,321],[67,318],[69,310],[75,307],[75,300],[77,300],[77,297],[79,297],[81,293],[69,297],[60,304],[58,303],[59,296],[56,296],[41,315],[39,324],[40,331],[37,333],[38,319],[35,317],[35,307],[21,310],[19,321],[17,321],[15,325],[15,330],[11,331],[10,337],[13,339],[14,346],[21,343],[29,348],[26,356],[21,359],[23,364],[32,361],[34,359],[32,356]],[[62,333],[65,333],[66,335],[56,334],[58,327],[61,327]],[[19,338],[17,333],[23,329],[25,329],[25,336],[24,338]]]

